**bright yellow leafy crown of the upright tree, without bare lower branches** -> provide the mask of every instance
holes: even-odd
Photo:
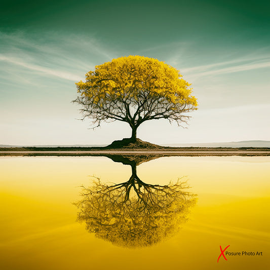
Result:
[[[195,109],[197,99],[190,96],[191,84],[174,67],[157,59],[128,56],[97,65],[86,74],[86,82],[76,83],[78,93],[95,104],[111,100],[138,100],[142,96],[163,97],[173,104]]]

